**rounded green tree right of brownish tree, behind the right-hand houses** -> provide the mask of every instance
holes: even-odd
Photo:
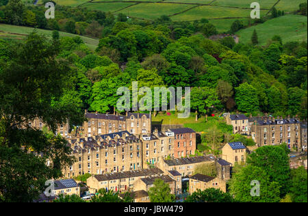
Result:
[[[235,102],[238,110],[247,113],[259,109],[259,98],[257,90],[248,83],[242,83],[239,87],[235,87]]]

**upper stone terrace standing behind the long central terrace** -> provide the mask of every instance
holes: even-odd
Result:
[[[150,113],[126,113],[126,116],[116,114],[89,113],[85,111],[87,119],[81,127],[81,137],[91,137],[107,133],[129,131],[140,135],[151,133]]]

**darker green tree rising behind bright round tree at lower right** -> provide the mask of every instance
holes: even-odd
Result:
[[[266,159],[266,160],[264,160]],[[262,146],[249,154],[246,163],[260,167],[270,181],[281,185],[281,197],[290,189],[289,157],[280,146]]]

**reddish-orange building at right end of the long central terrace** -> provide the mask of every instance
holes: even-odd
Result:
[[[188,128],[170,129],[175,135],[174,152],[175,158],[187,157],[196,150],[196,131]]]

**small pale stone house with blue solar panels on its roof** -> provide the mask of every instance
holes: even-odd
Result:
[[[246,162],[246,146],[240,141],[229,142],[222,147],[222,159],[231,163],[232,166],[235,163]]]

